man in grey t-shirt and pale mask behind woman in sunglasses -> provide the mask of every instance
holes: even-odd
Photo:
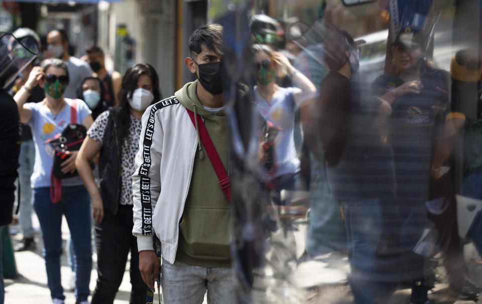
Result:
[[[65,88],[64,97],[76,98],[77,88],[83,79],[92,76],[92,71],[85,61],[69,55],[69,38],[64,30],[53,30],[47,35],[45,56],[61,59],[67,64],[70,80]]]

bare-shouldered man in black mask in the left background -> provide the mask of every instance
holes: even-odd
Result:
[[[105,56],[101,48],[96,45],[87,48],[88,63],[93,75],[102,80],[104,93],[102,99],[108,107],[119,104],[118,93],[121,88],[122,76],[117,71],[109,72],[105,69]]]

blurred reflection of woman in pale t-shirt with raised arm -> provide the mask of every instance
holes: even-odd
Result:
[[[274,139],[274,167],[265,182],[278,194],[282,189],[296,190],[300,160],[294,139],[295,111],[315,95],[316,88],[282,53],[266,45],[254,45],[253,52],[256,106],[263,118],[279,130]],[[295,87],[282,88],[276,84],[276,76],[284,73],[291,77]]]

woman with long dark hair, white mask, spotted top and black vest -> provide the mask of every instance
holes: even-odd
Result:
[[[97,285],[91,302],[112,303],[131,250],[131,304],[144,303],[147,286],[139,271],[137,239],[132,235],[132,174],[139,149],[141,117],[161,100],[159,79],[148,64],[136,64],[124,75],[119,105],[100,114],[87,132],[76,160],[91,200],[97,242]],[[100,189],[89,163],[100,153]]]

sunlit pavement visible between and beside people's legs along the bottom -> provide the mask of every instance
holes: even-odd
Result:
[[[34,227],[38,227],[36,215],[33,215]],[[11,229],[16,226],[11,225]],[[65,243],[69,237],[67,223],[62,222],[62,239]],[[12,241],[14,245],[22,238],[21,234],[13,235]],[[45,263],[42,257],[42,236],[38,232],[35,236],[37,240],[37,249],[35,251],[16,252],[15,258],[19,277],[16,279],[5,279],[5,303],[36,303],[51,304],[50,292],[47,287],[47,275],[45,272]],[[297,237],[300,239],[300,237]],[[93,246],[94,248],[94,246]],[[472,245],[465,246],[465,259],[470,272],[470,280],[477,286],[482,285],[482,259],[478,256]],[[90,290],[95,288],[97,279],[96,261],[97,256],[92,255],[93,266],[90,277]],[[71,275],[70,267],[67,263],[67,257],[64,250],[61,260],[62,285],[66,288],[69,284]],[[441,263],[440,263],[441,264]],[[298,291],[304,293],[304,303],[308,304],[348,304],[352,303],[353,297],[350,288],[346,282],[346,272],[348,269],[346,257],[336,254],[320,257],[312,261],[301,263],[293,273],[293,278],[301,287]],[[463,301],[451,297],[447,293],[446,274],[444,268],[437,268],[437,276],[441,282],[436,283],[435,288],[429,291],[429,297],[434,300],[434,304],[469,304],[473,301]],[[305,292],[303,292],[305,288]],[[117,292],[114,304],[128,304],[130,296],[130,278],[129,278],[129,262],[126,265],[126,271],[119,291]],[[285,290],[287,291],[287,290]],[[75,296],[72,290],[64,291],[66,304],[74,304]],[[265,294],[266,295],[266,294]],[[396,292],[388,304],[408,304],[410,298],[410,289],[403,289]],[[266,299],[266,297],[265,297]],[[154,303],[158,302],[157,293],[154,297]],[[271,302],[266,299],[263,302]],[[206,297],[204,298],[206,303]],[[287,302],[288,303],[288,302]],[[482,304],[482,296],[476,303]],[[231,303],[226,303],[231,304]]]

